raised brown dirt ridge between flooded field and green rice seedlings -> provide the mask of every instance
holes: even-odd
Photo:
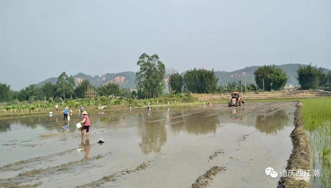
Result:
[[[301,116],[301,105],[297,104],[294,115],[294,130],[292,138],[293,150],[287,162],[286,170],[309,170],[310,169],[310,148],[307,132]],[[310,188],[310,181],[298,180],[297,177],[281,177],[277,188]]]

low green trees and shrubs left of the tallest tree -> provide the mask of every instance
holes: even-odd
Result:
[[[131,94],[129,89],[121,89],[119,84],[112,82],[99,88],[95,87],[89,80],[82,80],[76,84],[72,76],[68,76],[66,72],[63,72],[55,84],[48,82],[40,87],[31,84],[20,91],[13,91],[10,89],[10,85],[0,83],[0,101],[12,101],[16,99],[19,101],[34,102],[35,100],[58,101],[59,99],[78,99],[85,98],[85,92],[88,89],[97,92],[98,96],[113,94],[128,96]]]

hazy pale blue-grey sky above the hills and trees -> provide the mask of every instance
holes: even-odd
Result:
[[[330,0],[0,0],[0,82],[19,90],[63,71],[167,67],[233,71],[303,63],[331,69]]]

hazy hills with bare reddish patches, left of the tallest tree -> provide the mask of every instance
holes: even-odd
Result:
[[[97,87],[100,87],[109,82],[113,82],[119,84],[121,88],[136,88],[135,72],[107,73],[102,76],[91,76],[80,72],[74,75],[73,78],[75,79],[77,84],[80,83],[83,79],[88,79],[92,84]],[[37,86],[40,87],[48,82],[55,84],[57,81],[58,79],[53,77],[38,83]]]

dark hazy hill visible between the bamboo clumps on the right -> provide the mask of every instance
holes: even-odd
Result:
[[[287,76],[289,76],[289,80],[287,81],[286,85],[293,85],[293,86],[300,86],[299,82],[297,80],[297,70],[299,68],[299,65],[306,66],[304,64],[285,64],[285,65],[276,65],[276,68],[284,69]],[[254,79],[254,71],[261,66],[250,66],[246,67],[240,70],[235,70],[232,72],[226,72],[226,71],[215,71],[215,75],[219,78],[218,83],[221,86],[224,86],[225,83],[229,84],[232,82],[238,83],[240,81],[239,75],[247,75],[246,77],[246,84],[255,84]],[[331,70],[323,68],[324,72],[329,72]],[[245,83],[245,80],[243,78],[243,83]]]

